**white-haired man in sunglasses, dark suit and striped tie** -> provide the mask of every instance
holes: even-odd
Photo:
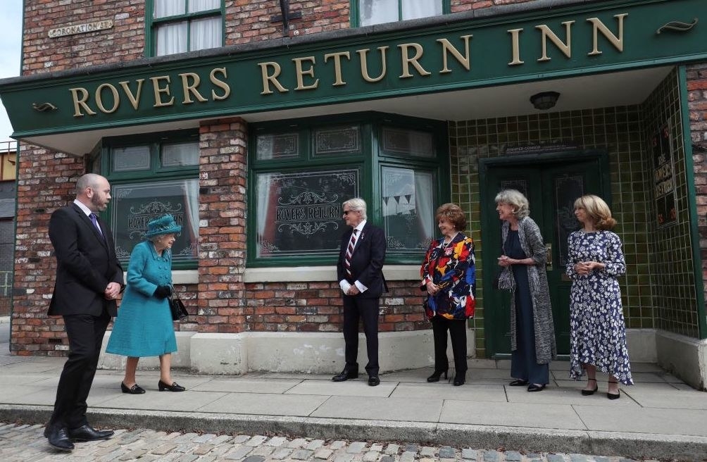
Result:
[[[343,204],[344,221],[351,226],[341,236],[337,262],[339,286],[344,296],[344,342],[346,366],[332,378],[341,382],[358,377],[358,320],[363,319],[368,352],[368,385],[376,386],[378,378],[378,307],[380,294],[387,291],[383,279],[385,233],[366,221],[366,202],[356,197]]]

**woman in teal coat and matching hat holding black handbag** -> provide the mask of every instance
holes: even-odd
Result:
[[[105,351],[127,356],[123,393],[145,393],[136,383],[141,357],[160,357],[159,391],[185,391],[172,380],[172,353],[177,351],[168,297],[172,294],[172,253],[182,226],[165,215],[147,224],[146,241],[135,246],[128,265],[127,287]]]

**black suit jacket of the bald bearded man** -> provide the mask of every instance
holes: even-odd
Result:
[[[116,301],[106,300],[103,292],[109,282],[124,285],[123,269],[110,230],[98,223],[105,239],[76,204],[52,213],[49,239],[57,257],[57,280],[49,316],[100,316],[104,306],[110,316],[117,316]]]

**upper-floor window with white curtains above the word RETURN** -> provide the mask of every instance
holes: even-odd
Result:
[[[450,0],[351,0],[354,26],[393,23],[450,13]]]

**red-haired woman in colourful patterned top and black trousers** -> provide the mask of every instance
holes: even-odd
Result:
[[[474,316],[476,303],[474,240],[462,233],[467,219],[458,205],[440,206],[436,220],[443,236],[432,241],[420,268],[420,289],[428,294],[425,311],[435,340],[435,373],[427,381],[439,381],[442,374],[447,379],[449,330],[456,370],[454,385],[460,386],[467,378],[467,318]]]

